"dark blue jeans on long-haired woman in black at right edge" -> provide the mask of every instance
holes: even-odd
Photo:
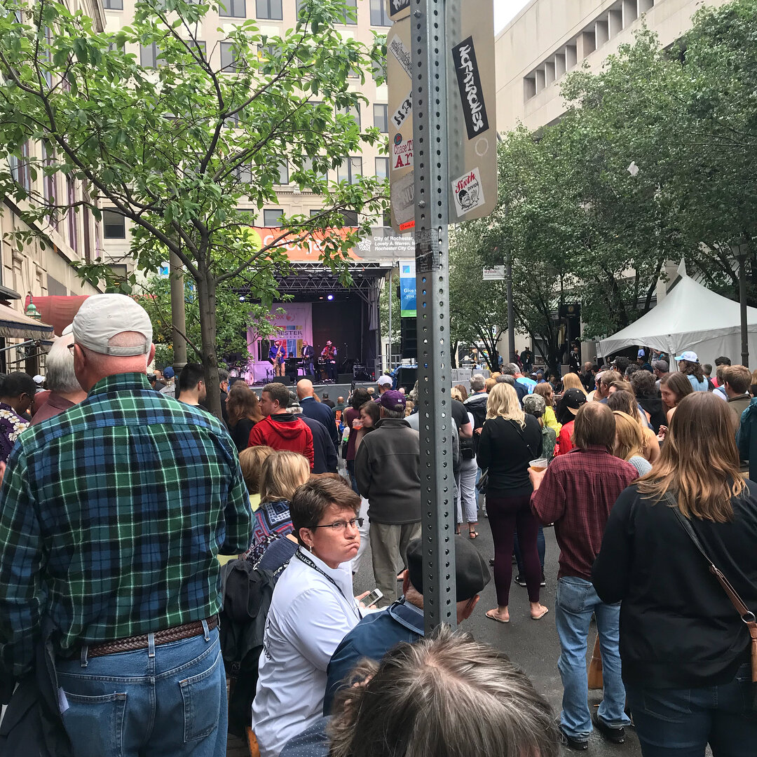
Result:
[[[752,671],[744,663],[730,684],[696,689],[628,687],[628,703],[644,757],[754,757],[757,714]]]

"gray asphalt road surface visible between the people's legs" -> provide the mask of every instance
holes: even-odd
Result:
[[[464,533],[464,531],[463,531]],[[486,518],[481,518],[478,524],[478,539],[475,546],[488,560],[494,556],[494,546],[491,540],[491,531]],[[557,658],[560,653],[559,640],[555,628],[554,606],[555,590],[557,582],[557,556],[559,549],[555,541],[553,528],[545,528],[544,535],[547,540],[547,553],[544,561],[544,575],[547,578],[547,587],[542,589],[541,603],[550,608],[550,612],[540,621],[531,620],[528,612],[528,595],[524,587],[512,584],[510,591],[510,622],[508,625],[497,623],[487,618],[484,613],[497,606],[497,597],[494,591],[494,579],[484,589],[473,615],[463,621],[460,628],[469,631],[478,641],[484,641],[503,650],[513,662],[520,665],[528,674],[534,686],[544,694],[556,713],[559,713],[562,700],[562,683],[557,671]],[[517,570],[513,565],[513,578]],[[374,588],[371,569],[370,551],[366,550],[360,570],[355,577],[355,593],[360,593]],[[589,650],[593,647],[596,631],[592,624],[589,634]],[[589,655],[590,656],[590,655]],[[593,706],[598,706],[602,698],[601,691],[590,691],[589,701]],[[634,729],[626,728],[626,740],[623,744],[611,744],[603,740],[601,734],[595,732],[591,735],[587,752],[573,752],[563,749],[565,755],[612,755],[612,757],[640,757],[641,749]]]

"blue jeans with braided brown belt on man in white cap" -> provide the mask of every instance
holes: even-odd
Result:
[[[89,659],[84,647],[55,668],[76,757],[225,757],[226,674],[217,629]]]

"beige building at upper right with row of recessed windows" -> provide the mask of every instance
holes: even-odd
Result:
[[[642,23],[670,45],[702,5],[702,0],[531,0],[495,42],[498,129],[552,123],[565,111],[559,85],[566,71],[584,64],[599,71],[608,55],[633,42]]]

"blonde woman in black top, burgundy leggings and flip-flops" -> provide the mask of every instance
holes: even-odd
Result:
[[[512,581],[512,540],[518,531],[531,618],[547,613],[539,603],[541,566],[536,540],[538,524],[531,512],[528,463],[541,455],[541,428],[534,416],[526,416],[518,395],[509,384],[495,384],[489,392],[486,421],[478,444],[478,466],[488,469],[486,510],[494,537],[494,584],[497,607],[488,618],[509,623],[507,609]]]

